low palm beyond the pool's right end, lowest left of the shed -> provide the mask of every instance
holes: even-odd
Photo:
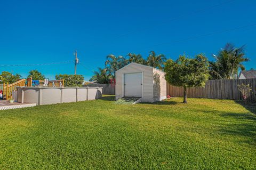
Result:
[[[108,84],[110,82],[110,78],[112,77],[106,68],[98,68],[99,71],[94,71],[94,75],[90,79],[90,81],[97,81],[100,84]]]

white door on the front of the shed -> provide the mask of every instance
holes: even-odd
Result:
[[[142,72],[124,74],[124,96],[142,97]]]

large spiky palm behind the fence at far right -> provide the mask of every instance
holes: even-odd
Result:
[[[245,70],[243,62],[249,61],[245,58],[245,46],[235,47],[227,43],[217,55],[213,55],[215,61],[210,61],[211,79],[232,79],[236,78],[238,69]]]

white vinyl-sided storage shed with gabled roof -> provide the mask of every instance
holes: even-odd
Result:
[[[138,63],[130,63],[116,71],[116,100],[138,97],[142,102],[166,99],[165,73]]]

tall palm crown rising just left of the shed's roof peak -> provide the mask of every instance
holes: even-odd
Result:
[[[107,56],[107,60],[105,62],[105,66],[109,71],[109,74],[113,75],[113,77],[115,77],[116,70],[121,69],[125,65],[126,65],[126,60],[121,55],[116,57],[115,55],[110,54]]]

